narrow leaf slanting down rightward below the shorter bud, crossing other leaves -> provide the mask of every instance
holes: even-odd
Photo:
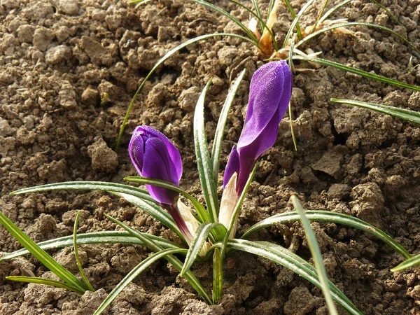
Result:
[[[152,251],[158,252],[158,251],[162,251],[164,249],[157,242],[153,241],[153,239],[151,237],[149,237],[150,235],[141,234],[141,233],[137,232],[137,230],[134,230],[130,226],[126,225],[125,223],[122,223],[115,218],[111,218],[111,216],[107,216],[107,218],[109,218],[114,223],[117,223],[118,225],[120,225],[121,228],[125,229],[132,236],[138,237],[146,246],[151,248]],[[182,267],[183,267],[183,263],[178,258],[176,258],[174,255],[167,255],[167,256],[165,256],[165,259],[170,264],[172,264],[179,272],[181,272]],[[203,297],[203,299],[208,304],[211,304],[211,299],[210,299],[209,295],[207,295],[206,290],[204,290],[202,284],[197,279],[195,274],[193,274],[193,272],[190,272],[190,271],[186,272],[186,274],[184,275],[184,278],[186,278],[186,280],[190,283],[190,285],[197,291],[197,293],[199,293]]]

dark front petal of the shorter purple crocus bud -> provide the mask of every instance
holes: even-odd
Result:
[[[176,174],[170,174],[174,168],[169,158],[167,146],[160,138],[150,138],[144,146],[143,176],[150,179],[162,179],[175,185],[179,185]],[[146,185],[153,199],[162,204],[174,204],[178,200],[179,193],[162,187]]]

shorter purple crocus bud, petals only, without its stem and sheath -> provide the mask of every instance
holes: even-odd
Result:
[[[148,126],[137,127],[128,147],[130,158],[140,176],[162,179],[179,186],[182,160],[178,149],[162,132]],[[162,207],[172,207],[179,193],[162,187],[146,185],[148,192]]]

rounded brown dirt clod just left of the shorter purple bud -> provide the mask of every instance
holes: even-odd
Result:
[[[87,154],[92,158],[92,169],[112,173],[118,167],[118,155],[100,138],[87,147]]]

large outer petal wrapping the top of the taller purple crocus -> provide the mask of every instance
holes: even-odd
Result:
[[[291,91],[292,74],[286,62],[269,62],[255,71],[251,80],[244,128],[237,146],[239,155],[241,148],[258,142],[257,138],[269,123],[271,123],[269,127],[280,123],[288,108]],[[267,132],[273,135],[265,146],[256,146],[256,151],[253,153],[255,159],[274,144],[276,131]]]

